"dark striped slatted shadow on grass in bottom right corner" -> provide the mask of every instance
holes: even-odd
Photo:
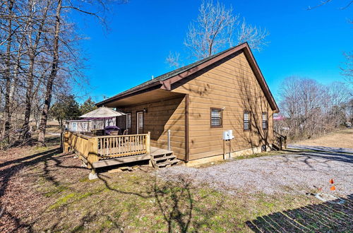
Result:
[[[306,205],[257,217],[246,225],[254,232],[352,232],[353,194],[345,203]]]

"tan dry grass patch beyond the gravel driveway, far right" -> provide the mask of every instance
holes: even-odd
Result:
[[[318,138],[298,141],[294,144],[326,146],[333,148],[353,148],[353,129],[342,129]]]

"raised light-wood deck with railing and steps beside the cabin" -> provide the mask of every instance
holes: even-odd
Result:
[[[152,165],[155,165],[156,161],[170,163],[173,160],[173,164],[177,162],[172,151],[150,146],[150,133],[85,136],[68,131],[64,134],[64,152],[68,151],[78,154],[90,169],[143,160],[153,160]]]

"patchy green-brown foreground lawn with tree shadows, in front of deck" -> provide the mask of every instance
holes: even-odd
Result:
[[[0,152],[0,232],[352,230],[352,196],[345,205],[308,195],[230,196],[188,179],[157,179],[148,167],[89,181],[78,159],[48,145]]]

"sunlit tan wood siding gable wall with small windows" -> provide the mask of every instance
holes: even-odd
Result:
[[[172,90],[189,94],[190,160],[222,155],[222,133],[228,129],[233,130],[235,137],[231,141],[232,151],[272,142],[273,111],[244,53],[220,61],[198,75]],[[225,108],[222,128],[210,128],[211,107]],[[251,112],[251,131],[244,131],[246,110]],[[262,129],[263,112],[268,113],[267,131]],[[229,152],[229,142],[226,152]]]

